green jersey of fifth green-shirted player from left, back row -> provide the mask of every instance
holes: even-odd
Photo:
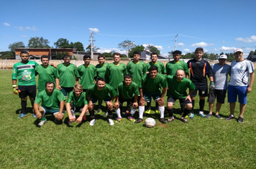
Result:
[[[117,85],[124,80],[124,74],[127,74],[127,66],[123,63],[115,65],[109,64],[106,67],[106,75],[109,77],[109,84],[116,89]]]

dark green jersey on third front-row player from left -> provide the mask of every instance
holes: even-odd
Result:
[[[106,97],[116,97],[116,90],[109,84],[105,84],[103,90],[98,90],[96,84],[92,84],[86,91],[86,97],[93,97],[94,99],[104,100]]]

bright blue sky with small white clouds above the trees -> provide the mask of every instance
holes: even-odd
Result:
[[[183,54],[203,47],[220,54],[242,48],[244,57],[256,49],[255,0],[190,1],[9,1],[1,0],[0,52],[9,44],[31,37],[90,44],[90,32],[98,52],[121,52],[118,44],[153,45],[161,55],[176,49]]]

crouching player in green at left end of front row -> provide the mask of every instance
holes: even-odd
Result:
[[[54,122],[58,124],[63,120],[63,109],[65,105],[65,97],[60,90],[55,89],[53,82],[45,83],[45,90],[37,93],[35,97],[35,115],[40,120],[38,127],[45,125],[47,122],[45,115],[54,115]],[[39,106],[40,102],[42,105]]]

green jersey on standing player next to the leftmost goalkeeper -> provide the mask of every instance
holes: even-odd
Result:
[[[35,68],[35,74],[38,74],[37,90],[45,90],[46,82],[53,82],[55,84],[55,79],[58,79],[59,73],[58,69],[52,66],[43,67],[42,64]],[[56,84],[55,84],[56,86]]]

